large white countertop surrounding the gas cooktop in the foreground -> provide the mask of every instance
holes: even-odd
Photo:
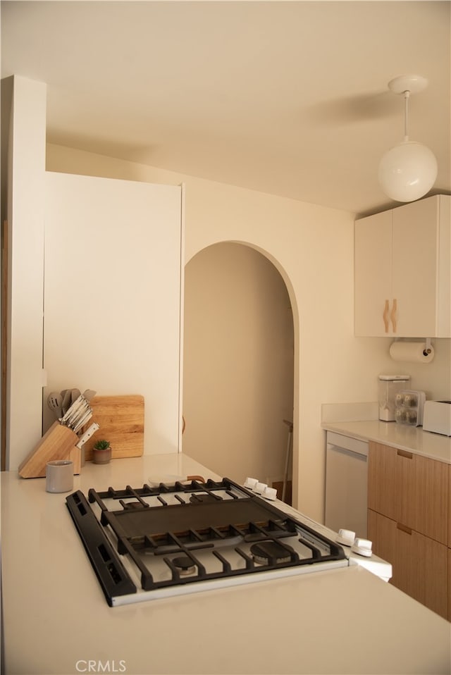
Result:
[[[88,462],[74,490],[157,473],[219,478],[185,455]],[[451,669],[451,624],[351,566],[109,607],[45,479],[2,473],[6,675],[401,674]],[[107,668],[105,668],[105,664]]]

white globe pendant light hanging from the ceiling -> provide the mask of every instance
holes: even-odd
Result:
[[[431,190],[437,178],[437,160],[433,152],[409,140],[409,98],[426,89],[428,80],[421,75],[401,75],[390,80],[393,94],[404,95],[404,140],[388,150],[379,164],[379,183],[385,194],[396,202],[414,202]]]

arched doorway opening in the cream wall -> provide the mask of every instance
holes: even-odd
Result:
[[[293,316],[282,276],[252,247],[212,244],[187,263],[183,371],[184,452],[236,481],[280,483]]]

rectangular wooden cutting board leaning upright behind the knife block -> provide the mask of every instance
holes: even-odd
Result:
[[[111,457],[141,457],[144,453],[144,396],[94,396],[90,402],[93,422],[100,426],[85,443],[85,459],[92,459],[92,446],[106,438]]]

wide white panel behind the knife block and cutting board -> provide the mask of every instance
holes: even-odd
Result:
[[[143,395],[144,454],[177,452],[182,188],[47,173],[46,190],[46,395]]]

